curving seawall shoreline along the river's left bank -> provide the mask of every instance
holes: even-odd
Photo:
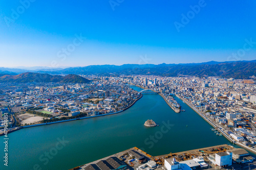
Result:
[[[57,122],[50,122],[50,123],[43,123],[43,124],[35,124],[35,125],[28,125],[28,126],[20,126],[21,128],[19,129],[15,129],[15,130],[10,130],[8,131],[8,134],[23,128],[30,128],[30,127],[36,127],[36,126],[43,126],[43,125],[51,125],[51,124],[57,124],[57,123],[63,123],[63,122],[69,122],[69,121],[74,121],[74,120],[80,120],[80,119],[87,119],[87,118],[93,118],[93,117],[100,117],[100,116],[106,116],[106,115],[112,115],[112,114],[117,114],[120,112],[123,112],[124,110],[129,109],[130,107],[132,107],[139,99],[142,98],[143,95],[141,95],[138,99],[136,99],[131,105],[127,106],[126,108],[124,108],[123,110],[119,110],[117,112],[114,113],[106,113],[106,114],[100,114],[100,115],[95,115],[95,116],[88,116],[88,117],[79,117],[79,118],[73,118],[73,119],[69,119],[69,120],[61,120],[61,121],[57,121]],[[0,134],[0,136],[4,135],[4,132]]]

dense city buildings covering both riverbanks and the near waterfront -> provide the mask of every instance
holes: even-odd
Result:
[[[185,112],[173,98],[178,96],[214,127],[212,131],[216,135],[224,135],[231,142],[256,153],[256,84],[253,80],[190,76],[80,76],[90,79],[90,83],[2,83],[2,134],[6,122],[9,132],[12,132],[22,127],[119,113],[132,106],[144,92],[153,92],[161,95],[175,112]],[[132,86],[143,90],[135,91]],[[193,156],[193,159],[179,160],[170,157],[162,160],[162,164],[143,156],[139,149],[127,152],[127,156],[145,164],[139,169],[144,166],[148,169],[161,166],[167,170],[193,169],[210,163],[229,167],[232,162],[254,161],[243,149],[222,150],[205,158]],[[123,160],[109,157],[84,169],[127,169],[133,165],[132,161],[124,163]],[[205,163],[205,160],[209,162]]]

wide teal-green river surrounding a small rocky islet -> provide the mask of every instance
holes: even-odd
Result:
[[[140,91],[138,87],[133,87]],[[185,112],[175,113],[158,94],[143,94],[131,108],[114,115],[25,128],[9,134],[8,167],[0,137],[0,169],[70,169],[138,147],[152,156],[219,144],[205,120],[176,98]],[[147,119],[159,126],[144,127]]]

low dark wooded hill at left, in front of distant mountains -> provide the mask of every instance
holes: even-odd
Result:
[[[19,74],[16,76],[0,74],[0,83],[29,83],[29,82],[88,83],[90,81],[86,78],[83,78],[77,75],[67,75],[63,77],[58,75],[52,76],[49,74],[39,74],[34,72],[25,72],[23,74]]]

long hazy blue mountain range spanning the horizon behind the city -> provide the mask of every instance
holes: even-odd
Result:
[[[16,75],[29,70],[19,68],[0,68],[0,74]],[[31,71],[31,70],[30,70]],[[84,74],[84,75],[157,75],[157,76],[219,76],[224,78],[248,79],[256,76],[256,60],[252,61],[209,61],[187,64],[123,64],[123,65],[90,65],[69,68],[42,68],[31,72],[40,74]]]

